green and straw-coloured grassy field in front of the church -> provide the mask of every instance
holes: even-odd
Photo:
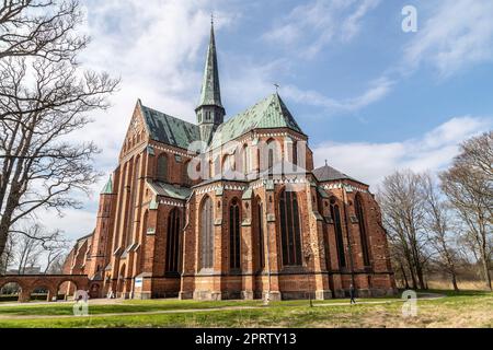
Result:
[[[489,327],[493,293],[435,291],[446,298],[419,300],[416,317],[402,316],[399,299],[316,302],[122,301],[90,305],[90,316],[73,317],[72,305],[0,306],[0,327]]]

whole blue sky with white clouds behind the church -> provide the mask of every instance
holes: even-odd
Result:
[[[326,159],[378,183],[398,168],[444,170],[465,139],[493,124],[493,2],[457,1],[131,1],[82,2],[93,42],[89,68],[122,77],[113,108],[76,136],[102,149],[110,174],[133,107],[194,121],[216,16],[222,102],[229,116],[275,91],[310,136],[316,165]],[[401,27],[417,10],[416,33]],[[95,225],[98,191],[48,226],[70,237]],[[50,217],[51,215],[51,217]],[[49,213],[47,218],[55,218]]]

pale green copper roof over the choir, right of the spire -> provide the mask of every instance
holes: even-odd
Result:
[[[272,128],[289,128],[303,133],[277,93],[221,124],[214,135],[210,148],[220,147],[253,129]]]

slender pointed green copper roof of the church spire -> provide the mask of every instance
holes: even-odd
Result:
[[[200,102],[198,106],[222,107],[214,24],[210,26],[210,43],[207,50],[207,60],[204,71],[204,81],[202,83]]]

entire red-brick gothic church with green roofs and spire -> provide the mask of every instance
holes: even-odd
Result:
[[[275,93],[228,118],[214,26],[197,124],[137,102],[96,228],[67,275],[126,299],[342,298],[395,292],[379,206],[364,183],[313,167]]]

